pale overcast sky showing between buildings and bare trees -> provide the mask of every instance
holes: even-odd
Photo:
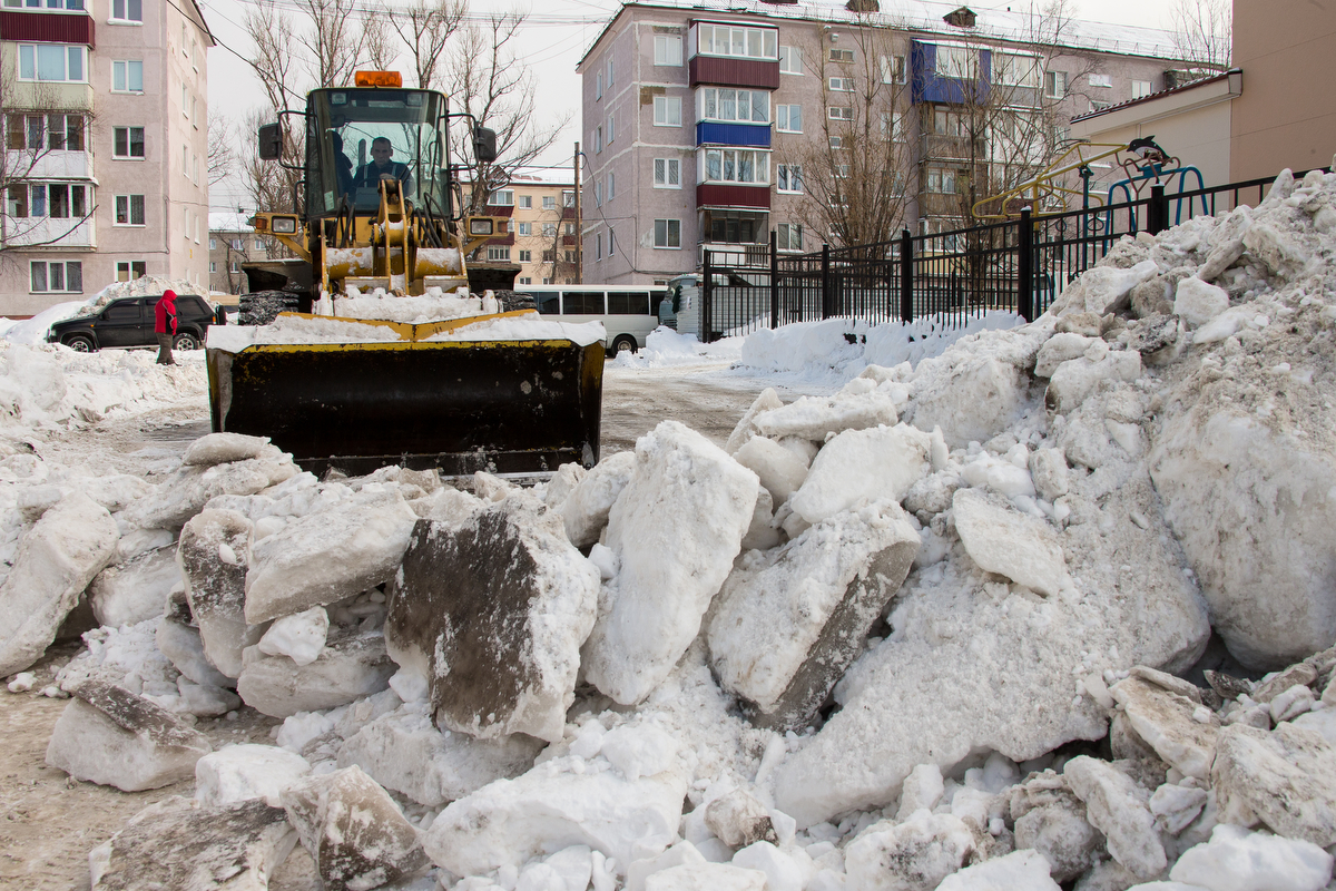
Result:
[[[240,122],[251,110],[265,104],[265,95],[250,67],[236,55],[248,55],[250,40],[240,25],[247,3],[254,0],[202,0],[208,27],[219,45],[208,51],[208,111]],[[391,0],[393,1],[393,0]],[[570,123],[549,154],[540,162],[548,166],[570,167],[574,142],[580,138],[580,80],[576,63],[599,36],[603,25],[619,8],[616,0],[469,0],[474,13],[486,15],[493,9],[525,9],[530,21],[522,43],[524,61],[537,75],[540,115],[548,120],[570,114]],[[982,0],[970,3],[975,12],[1010,8],[1014,0]],[[1092,21],[1114,24],[1169,27],[1168,0],[1077,0],[1077,15]],[[1019,9],[1021,7],[1017,5]],[[238,135],[238,139],[253,139]],[[215,187],[210,204],[214,210],[235,210],[244,199],[235,188]],[[247,207],[247,210],[254,210]]]

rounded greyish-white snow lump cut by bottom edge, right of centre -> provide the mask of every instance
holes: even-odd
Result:
[[[973,852],[974,832],[958,816],[916,811],[864,830],[844,848],[844,870],[859,891],[933,891]]]

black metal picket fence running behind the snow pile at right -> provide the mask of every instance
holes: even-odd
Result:
[[[1296,175],[1300,176],[1301,174]],[[937,315],[946,327],[989,310],[1041,315],[1124,235],[1152,235],[1202,214],[1256,206],[1275,178],[1062,214],[911,235],[810,254],[739,246],[703,251],[700,337],[716,341],[763,327],[828,318],[870,325]],[[766,255],[768,254],[768,256]],[[767,262],[768,260],[768,262]]]

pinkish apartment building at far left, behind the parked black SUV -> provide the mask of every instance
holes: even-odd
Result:
[[[4,0],[0,314],[144,274],[207,287],[212,45],[194,0]]]

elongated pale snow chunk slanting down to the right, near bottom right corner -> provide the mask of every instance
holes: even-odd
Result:
[[[1168,859],[1146,795],[1108,761],[1081,755],[1062,768],[1085,801],[1090,826],[1104,832],[1110,856],[1140,879],[1153,879]]]

